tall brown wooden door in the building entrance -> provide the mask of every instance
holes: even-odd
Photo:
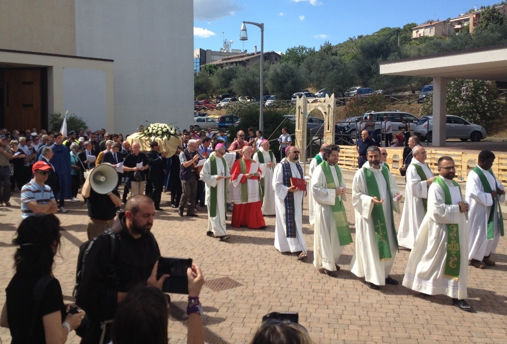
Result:
[[[8,130],[41,129],[41,70],[3,69],[4,124]]]

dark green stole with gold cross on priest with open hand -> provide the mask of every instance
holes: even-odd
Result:
[[[375,180],[375,176],[372,171],[363,167],[363,171],[365,173],[366,187],[368,188],[368,195],[371,197],[376,196],[380,200],[380,191],[377,185],[377,181]],[[382,168],[382,175],[384,176],[385,182],[387,183],[387,192],[389,194],[389,201],[391,203],[391,228],[393,238],[396,241],[396,247],[398,246],[398,241],[396,238],[396,233],[394,232],[394,216],[392,213],[392,195],[391,186],[389,184],[389,172],[387,168]],[[385,202],[385,201],[384,201]],[[392,259],[391,255],[391,247],[389,244],[389,237],[387,236],[387,226],[384,217],[384,210],[382,208],[382,204],[373,204],[372,210],[372,218],[375,226],[375,238],[377,239],[377,248],[379,251],[380,260],[389,260]]]

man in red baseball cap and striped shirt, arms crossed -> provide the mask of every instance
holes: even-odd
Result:
[[[50,164],[38,161],[32,166],[33,178],[21,188],[21,217],[37,214],[54,214],[58,211],[51,187],[44,184],[54,173]]]

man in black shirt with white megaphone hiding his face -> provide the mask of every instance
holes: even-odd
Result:
[[[88,202],[90,221],[86,227],[88,240],[95,238],[113,224],[116,209],[122,205],[117,188],[118,175],[111,164],[101,164],[88,173],[81,195]]]

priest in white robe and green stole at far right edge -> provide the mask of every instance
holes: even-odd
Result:
[[[466,179],[465,200],[468,211],[468,259],[470,264],[485,269],[495,266],[490,254],[494,253],[503,236],[503,218],[498,211],[505,201],[503,185],[491,171],[495,155],[490,150],[479,153],[479,163]]]

